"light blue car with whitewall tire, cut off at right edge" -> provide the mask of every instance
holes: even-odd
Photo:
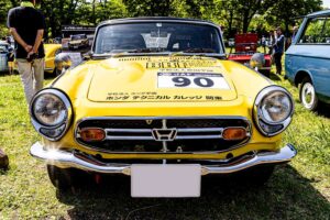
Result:
[[[286,78],[299,86],[305,108],[330,103],[330,10],[305,16],[285,56]]]

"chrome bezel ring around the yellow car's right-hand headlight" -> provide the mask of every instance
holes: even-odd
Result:
[[[287,118],[280,120],[280,121],[271,122],[271,121],[266,120],[263,117],[261,105],[263,103],[265,98],[273,95],[274,92],[282,92],[285,96],[287,96],[287,98],[290,101],[290,107],[292,108],[290,108],[290,111],[289,111]],[[265,87],[256,96],[254,105],[253,105],[253,119],[254,119],[254,122],[256,124],[257,130],[263,135],[265,135],[265,136],[275,136],[275,135],[282,133],[284,130],[286,130],[286,128],[290,124],[290,122],[293,120],[294,111],[295,111],[295,102],[294,102],[294,99],[293,99],[290,92],[287,91],[285,88],[280,87],[280,86],[272,85],[272,86]],[[263,129],[263,125],[267,125],[270,128],[277,127],[277,128],[280,128],[280,129],[277,129],[274,132],[267,132]]]

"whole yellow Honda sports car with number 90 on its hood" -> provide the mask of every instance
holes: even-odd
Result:
[[[30,107],[43,136],[31,155],[46,162],[58,189],[85,183],[81,175],[118,174],[131,176],[132,197],[198,197],[201,176],[263,184],[296,155],[280,145],[290,94],[226,61],[213,23],[111,20],[97,28],[91,51]]]

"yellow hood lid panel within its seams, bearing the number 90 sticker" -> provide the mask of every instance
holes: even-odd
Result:
[[[105,101],[228,101],[235,87],[216,58],[122,57],[94,68],[88,99]]]

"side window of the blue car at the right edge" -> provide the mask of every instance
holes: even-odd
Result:
[[[307,22],[300,44],[330,44],[330,18],[314,18]]]

